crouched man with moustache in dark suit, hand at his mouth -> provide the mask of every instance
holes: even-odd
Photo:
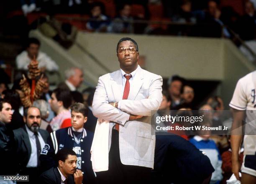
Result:
[[[83,174],[77,168],[77,154],[68,148],[62,148],[56,155],[58,167],[41,174],[41,184],[82,184]]]

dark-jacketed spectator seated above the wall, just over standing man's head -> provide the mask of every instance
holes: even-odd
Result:
[[[118,10],[118,16],[110,24],[110,32],[113,33],[133,33],[133,21],[131,16],[131,5],[123,4]]]

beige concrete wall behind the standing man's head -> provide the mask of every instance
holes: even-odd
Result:
[[[78,66],[92,85],[100,75],[119,69],[116,45],[120,38],[131,37],[138,43],[140,56],[146,56],[148,71],[162,77],[179,74],[187,79],[221,81],[215,95],[223,97],[226,108],[237,80],[255,69],[226,39],[79,32],[78,45],[66,50],[38,31],[31,36],[38,37],[41,50],[57,61],[62,79],[65,69]]]

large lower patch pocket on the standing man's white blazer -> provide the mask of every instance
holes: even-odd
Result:
[[[137,132],[134,158],[148,162],[154,161],[154,135]]]

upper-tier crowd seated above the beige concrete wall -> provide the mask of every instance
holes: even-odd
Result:
[[[253,40],[256,32],[255,1],[241,0],[238,3],[240,8],[225,5],[221,0],[20,0],[16,8],[10,5],[10,9],[21,9],[25,16],[35,12],[50,16],[64,14],[66,19],[74,18],[73,22],[79,21],[75,19],[77,15],[86,15],[86,20],[82,20],[83,29],[92,32],[233,38],[230,28],[243,40]],[[172,24],[133,23],[133,20],[167,20]],[[72,21],[68,22],[72,24]],[[64,30],[67,34],[70,32],[67,28]]]

